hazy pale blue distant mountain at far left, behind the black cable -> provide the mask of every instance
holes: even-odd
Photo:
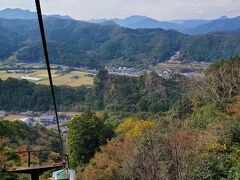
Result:
[[[46,17],[46,15],[44,15]],[[70,16],[61,16],[61,15],[49,15],[49,17],[61,18],[61,19],[72,19]],[[31,12],[29,10],[22,9],[3,9],[0,10],[0,18],[4,19],[24,19],[24,20],[32,20],[37,18],[36,12]]]

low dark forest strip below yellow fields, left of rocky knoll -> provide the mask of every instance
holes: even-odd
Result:
[[[0,80],[0,109],[6,111],[48,111],[53,109],[51,102],[50,87],[36,85],[26,80],[9,78],[6,81]],[[74,110],[78,105],[81,110],[81,102],[85,101],[86,87],[70,88],[55,87],[59,109],[65,108]]]

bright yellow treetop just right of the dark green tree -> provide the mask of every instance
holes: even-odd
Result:
[[[115,130],[116,133],[123,134],[126,138],[137,137],[146,129],[154,126],[154,122],[128,118],[123,121]]]

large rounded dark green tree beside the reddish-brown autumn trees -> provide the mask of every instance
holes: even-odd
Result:
[[[75,117],[69,125],[69,159],[72,167],[82,166],[111,138],[113,131],[91,111]]]

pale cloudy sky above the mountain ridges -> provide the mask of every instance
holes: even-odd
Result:
[[[0,9],[35,11],[34,0],[0,0]],[[78,20],[144,15],[158,20],[214,19],[240,15],[240,0],[41,0],[44,14]]]

